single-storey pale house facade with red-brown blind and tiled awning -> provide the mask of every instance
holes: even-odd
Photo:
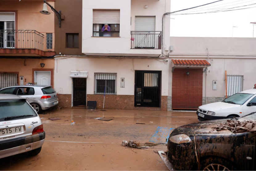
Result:
[[[227,96],[256,84],[255,38],[171,37],[170,42],[168,110],[196,109],[224,100],[225,71]]]

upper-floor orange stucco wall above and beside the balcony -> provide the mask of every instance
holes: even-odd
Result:
[[[47,1],[54,7],[54,1]],[[15,21],[18,30],[36,30],[44,34],[44,51],[46,49],[46,33],[52,33],[53,43],[52,50],[54,51],[54,17],[55,13],[48,6],[49,15],[41,14],[39,11],[43,9],[43,1],[6,1],[0,2],[0,12],[3,10],[17,10],[18,21]],[[1,11],[2,10],[2,11]],[[16,28],[16,27],[15,27]]]

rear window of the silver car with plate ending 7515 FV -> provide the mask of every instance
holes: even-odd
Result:
[[[36,112],[25,100],[0,100],[0,121],[35,116]]]

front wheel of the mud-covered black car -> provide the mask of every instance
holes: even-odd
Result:
[[[200,171],[236,171],[236,166],[223,158],[210,157],[200,162]]]

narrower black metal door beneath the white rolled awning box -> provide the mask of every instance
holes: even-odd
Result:
[[[73,106],[86,105],[86,78],[73,78]]]

